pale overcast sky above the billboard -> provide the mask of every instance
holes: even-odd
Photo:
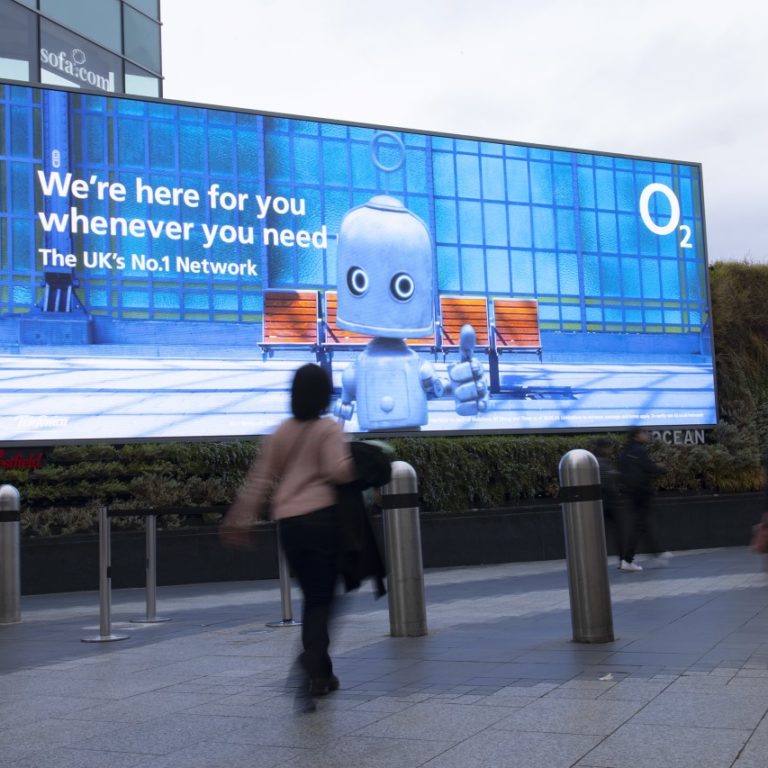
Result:
[[[764,2],[161,0],[161,14],[168,99],[699,162],[710,262],[768,263]]]

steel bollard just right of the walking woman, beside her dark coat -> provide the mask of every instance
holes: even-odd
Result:
[[[392,462],[392,479],[381,488],[387,560],[389,629],[393,637],[427,634],[424,567],[416,471]]]

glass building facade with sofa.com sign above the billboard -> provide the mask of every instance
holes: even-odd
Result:
[[[160,0],[0,0],[0,78],[162,96]]]

